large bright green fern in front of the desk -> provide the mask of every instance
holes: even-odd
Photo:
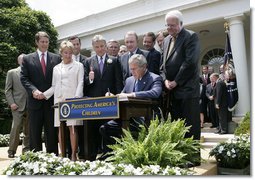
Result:
[[[151,121],[148,131],[145,126],[140,127],[137,140],[130,131],[123,129],[123,138],[115,138],[117,143],[109,146],[113,150],[110,154],[114,156],[108,157],[106,161],[132,164],[135,167],[186,167],[187,163],[200,161],[200,158],[196,158],[200,152],[200,143],[193,138],[184,138],[190,127],[185,127],[183,120],[160,122],[156,119]]]

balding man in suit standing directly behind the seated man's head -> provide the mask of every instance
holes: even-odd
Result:
[[[138,36],[134,31],[128,31],[124,37],[125,45],[127,46],[128,53],[120,56],[120,64],[121,70],[123,74],[123,84],[125,84],[125,80],[131,76],[131,72],[129,71],[128,60],[133,54],[142,54],[146,58],[148,55],[148,51],[141,50],[138,48]]]

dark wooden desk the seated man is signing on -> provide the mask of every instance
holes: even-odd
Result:
[[[145,99],[137,99],[137,98],[126,98],[119,100],[119,111],[120,111],[120,120],[122,122],[122,128],[127,129],[129,127],[129,119],[131,117],[145,117],[145,124],[147,127],[150,124],[150,119],[152,118],[152,106],[156,105],[156,101],[152,100],[145,100]],[[90,147],[88,146],[88,139],[93,138],[90,137],[88,133],[87,122],[89,120],[84,120],[84,153],[85,153],[85,160],[89,160],[89,152]],[[95,121],[95,120],[93,120]],[[62,138],[62,157],[65,157],[65,149],[66,149],[66,138],[65,138],[65,121],[61,121],[60,123],[60,131]],[[99,133],[99,132],[98,132]]]

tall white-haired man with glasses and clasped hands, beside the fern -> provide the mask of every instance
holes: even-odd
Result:
[[[196,33],[183,27],[183,16],[174,10],[165,17],[169,36],[164,39],[160,75],[170,93],[172,120],[185,119],[191,126],[186,137],[200,139],[199,40]]]

